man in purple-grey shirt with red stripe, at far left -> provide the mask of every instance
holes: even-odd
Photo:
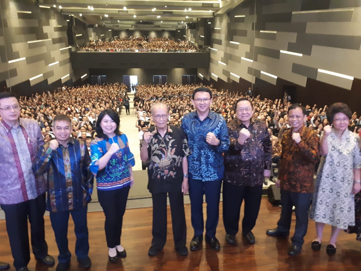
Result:
[[[0,93],[0,206],[5,212],[6,231],[17,271],[27,271],[30,261],[27,219],[31,227],[32,252],[38,262],[53,265],[45,242],[45,184],[34,176],[32,163],[44,144],[38,122],[20,117],[20,106],[12,92]]]

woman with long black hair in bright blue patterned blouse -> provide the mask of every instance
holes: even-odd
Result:
[[[90,170],[96,176],[98,199],[105,214],[105,236],[109,261],[126,257],[121,245],[123,215],[130,187],[134,183],[132,167],[134,155],[128,139],[119,131],[119,116],[112,109],[99,114],[91,143]]]

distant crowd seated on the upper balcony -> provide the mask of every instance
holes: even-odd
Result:
[[[111,38],[110,40],[90,40],[88,44],[79,46],[85,52],[199,52],[199,48],[189,44],[187,40],[177,42],[171,38],[139,36]]]

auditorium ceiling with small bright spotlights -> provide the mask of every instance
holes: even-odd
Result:
[[[39,0],[87,25],[114,30],[176,30],[201,18],[212,19],[243,0]]]

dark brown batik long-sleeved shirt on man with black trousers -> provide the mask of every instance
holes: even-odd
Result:
[[[251,134],[243,145],[238,143],[239,131],[247,129]],[[248,128],[234,119],[228,124],[229,150],[224,155],[223,181],[234,185],[257,186],[264,181],[264,169],[271,169],[272,147],[265,122],[251,119]]]

